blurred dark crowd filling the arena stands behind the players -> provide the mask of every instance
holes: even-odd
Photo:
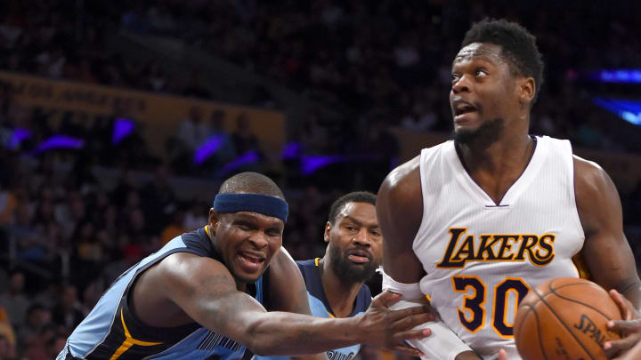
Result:
[[[352,154],[361,161],[305,175],[298,160],[286,160],[282,172],[269,173],[290,203],[284,244],[297,260],[321,256],[333,200],[353,189],[377,190],[398,152],[390,126],[450,130],[450,61],[470,21],[488,14],[521,20],[538,36],[547,72],[533,133],[571,139],[575,146],[626,149],[586,105],[599,89],[578,84],[596,68],[641,67],[641,52],[635,52],[641,40],[628,36],[641,19],[641,6],[633,2],[607,8],[578,0],[563,7],[459,0],[98,3],[0,4],[0,70],[209,97],[194,79],[167,74],[159,61],[137,63],[105,52],[105,37],[126,28],[181,38],[344,112],[338,122],[311,114],[293,140],[306,154]],[[116,276],[207,222],[213,199],[181,196],[184,188],[171,185],[176,176],[204,177],[217,188],[223,175],[265,170],[259,161],[215,172],[237,156],[261,154],[242,115],[227,133],[223,112],[192,108],[166,140],[167,159],[151,154],[138,130],[114,143],[113,126],[123,116],[118,104],[93,118],[23,108],[0,84],[0,359],[51,359]],[[16,145],[11,139],[18,128],[30,137]],[[85,148],[38,152],[38,144],[56,133],[84,140]],[[193,153],[210,136],[223,145],[195,166]],[[103,181],[98,167],[117,173],[116,183]],[[641,184],[621,200],[630,244],[641,259]]]

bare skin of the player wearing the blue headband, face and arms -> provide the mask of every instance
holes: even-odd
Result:
[[[243,278],[260,276],[260,271],[247,266],[234,254],[251,252],[256,257],[265,256],[265,263],[273,258],[275,266],[270,275],[275,276],[276,281],[272,286],[282,292],[275,301],[277,306],[288,311],[310,312],[296,264],[278,251],[282,220],[276,220],[281,223],[280,232],[274,234],[275,218],[255,212],[224,215],[210,211],[208,227],[214,234],[210,237],[215,240],[215,236],[227,236],[224,246],[218,249],[223,249],[223,259],[232,262],[239,275],[233,276],[225,264],[211,258],[187,252],[167,256],[139,276],[134,285],[133,307],[144,324],[171,327],[197,322],[239,341],[256,355],[318,354],[356,343],[420,355],[416,349],[404,345],[403,340],[428,336],[429,332],[410,329],[433,316],[427,314],[426,308],[388,310],[387,306],[399,299],[391,292],[377,296],[363,316],[353,318],[325,319],[267,312],[244,292]],[[284,279],[287,285],[283,284]]]

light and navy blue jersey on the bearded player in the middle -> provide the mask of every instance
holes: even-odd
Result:
[[[303,274],[305,286],[307,287],[307,300],[309,301],[312,315],[318,317],[334,317],[329,301],[325,296],[325,290],[322,287],[321,274],[319,273],[318,263],[321,259],[296,261],[298,268]],[[362,284],[361,290],[356,295],[352,313],[347,317],[361,316],[371,303],[371,292],[366,284]],[[330,350],[326,354],[329,360],[352,360],[353,356],[361,350],[361,344],[356,344],[347,348],[337,348]],[[256,360],[287,360],[288,357],[274,356],[256,356]]]

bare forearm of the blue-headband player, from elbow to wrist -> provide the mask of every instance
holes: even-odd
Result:
[[[310,355],[365,342],[358,317],[326,319],[275,312],[247,328],[247,348],[260,356]]]

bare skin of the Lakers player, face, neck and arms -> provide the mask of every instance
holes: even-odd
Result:
[[[497,119],[504,122],[498,138],[489,143],[473,138],[457,144],[469,176],[496,204],[534,152],[536,144],[528,129],[536,90],[533,78],[510,70],[499,45],[469,44],[453,61],[450,105],[455,133],[475,132]],[[623,234],[621,201],[613,181],[598,165],[578,156],[573,165],[576,203],[585,233],[580,256],[597,284],[618,290],[635,308],[641,308],[641,281]],[[418,283],[426,275],[412,249],[423,211],[417,156],[386,177],[377,197],[377,217],[385,238],[385,272],[401,283]],[[468,352],[457,359],[479,357]]]

